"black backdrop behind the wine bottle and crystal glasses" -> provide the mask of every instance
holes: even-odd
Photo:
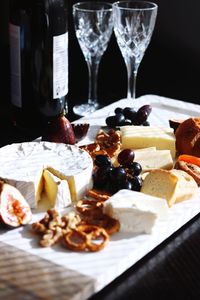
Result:
[[[87,66],[73,28],[71,8],[75,2],[69,0],[70,108],[86,101],[88,93]],[[200,103],[200,1],[155,2],[158,4],[158,17],[151,43],[139,67],[137,96],[157,94]],[[9,107],[8,3],[8,0],[0,1],[1,115]],[[126,97],[126,68],[114,34],[102,57],[98,81],[101,104]]]

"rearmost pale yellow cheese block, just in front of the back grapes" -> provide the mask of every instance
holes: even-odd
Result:
[[[176,155],[175,135],[172,128],[123,126],[120,130],[122,148],[156,147],[158,150],[170,150],[173,158]]]

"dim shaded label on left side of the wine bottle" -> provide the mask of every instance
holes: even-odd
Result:
[[[21,95],[21,59],[20,59],[20,27],[9,24],[10,68],[11,68],[11,102],[22,107]]]

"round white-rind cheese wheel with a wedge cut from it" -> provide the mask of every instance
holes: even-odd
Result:
[[[92,186],[93,161],[77,146],[51,142],[25,142],[0,148],[0,178],[20,190],[32,208],[43,190],[43,170],[66,179],[71,199],[80,199]],[[59,176],[60,175],[60,176]]]

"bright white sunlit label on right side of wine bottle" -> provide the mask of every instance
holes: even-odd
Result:
[[[53,37],[53,98],[68,93],[68,33]]]

